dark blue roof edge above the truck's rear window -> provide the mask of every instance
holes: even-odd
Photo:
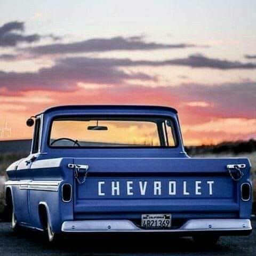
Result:
[[[63,105],[55,106],[45,109],[40,114],[50,113],[52,111],[67,111],[67,110],[96,110],[96,109],[111,109],[111,110],[158,110],[158,111],[170,111],[173,114],[177,114],[177,110],[171,107],[164,106],[150,106],[150,105]],[[39,114],[38,114],[39,115]]]

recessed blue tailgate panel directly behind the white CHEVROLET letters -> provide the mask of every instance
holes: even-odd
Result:
[[[77,199],[172,199],[178,204],[180,199],[188,198],[200,202],[204,200],[205,204],[209,204],[213,199],[231,199],[231,202],[235,202],[235,190],[229,177],[88,177],[83,185],[77,186]]]

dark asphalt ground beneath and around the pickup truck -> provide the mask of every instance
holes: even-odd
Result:
[[[252,221],[256,228],[256,221]],[[213,247],[195,245],[190,238],[143,240],[120,237],[90,239],[84,235],[67,236],[57,244],[44,242],[39,231],[14,234],[10,223],[0,222],[0,254],[6,255],[256,255],[256,230],[250,236],[221,237]]]

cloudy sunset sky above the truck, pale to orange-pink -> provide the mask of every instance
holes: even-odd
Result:
[[[186,145],[256,139],[256,2],[0,1],[0,140],[69,104],[174,107]]]

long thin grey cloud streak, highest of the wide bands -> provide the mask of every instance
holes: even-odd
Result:
[[[107,52],[107,51],[134,51],[134,50],[158,50],[158,49],[177,49],[187,47],[199,47],[195,44],[161,44],[147,43],[142,36],[133,37],[112,37],[112,38],[92,38],[81,42],[67,44],[49,44],[35,47],[28,47],[27,51],[33,54],[65,54],[78,52]],[[201,46],[205,47],[205,46]]]

